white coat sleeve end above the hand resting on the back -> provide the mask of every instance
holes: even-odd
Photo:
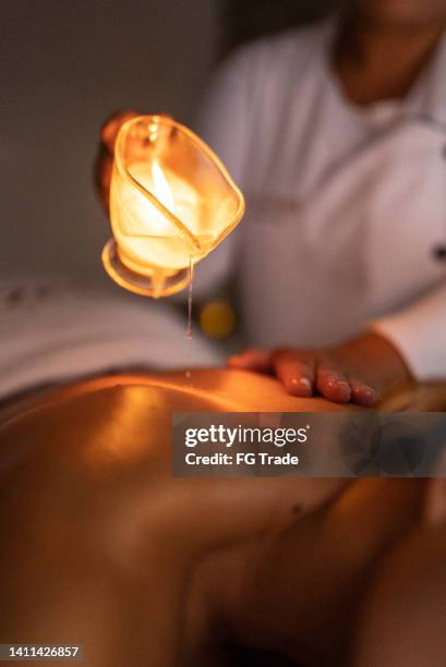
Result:
[[[372,323],[419,381],[446,378],[446,282],[403,311]]]

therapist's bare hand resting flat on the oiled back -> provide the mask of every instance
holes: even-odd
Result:
[[[369,408],[412,379],[397,350],[374,331],[330,349],[246,350],[229,357],[228,366],[273,374],[292,396]]]

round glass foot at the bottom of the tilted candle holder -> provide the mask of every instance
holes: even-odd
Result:
[[[121,262],[114,239],[110,239],[104,246],[103,264],[110,278],[124,290],[153,299],[176,294],[188,287],[191,280],[189,268],[179,269],[173,275],[160,268],[154,268],[150,276],[132,271]]]

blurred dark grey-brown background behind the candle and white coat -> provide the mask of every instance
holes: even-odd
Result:
[[[134,108],[194,125],[212,70],[330,0],[1,0],[0,270],[108,280],[93,191],[104,120]]]

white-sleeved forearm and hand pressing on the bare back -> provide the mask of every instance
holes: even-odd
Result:
[[[446,283],[327,350],[246,350],[229,365],[273,373],[289,393],[373,405],[401,385],[446,379]]]

